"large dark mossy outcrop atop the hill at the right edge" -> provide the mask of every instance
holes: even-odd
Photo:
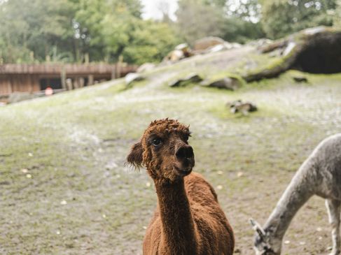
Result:
[[[243,75],[246,82],[276,77],[289,68],[308,73],[341,72],[341,30],[331,27],[305,29],[287,38],[260,47],[275,58]]]

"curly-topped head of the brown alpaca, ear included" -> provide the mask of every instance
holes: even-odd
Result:
[[[174,182],[189,175],[194,166],[193,148],[188,145],[188,126],[174,119],[158,119],[144,131],[139,143],[132,146],[128,163],[146,166],[155,180]]]

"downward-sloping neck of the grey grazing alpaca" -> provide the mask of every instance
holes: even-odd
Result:
[[[296,212],[314,194],[314,180],[314,170],[306,161],[291,180],[264,226],[265,232],[274,242],[281,243]]]

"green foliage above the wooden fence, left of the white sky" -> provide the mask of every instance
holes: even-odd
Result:
[[[141,19],[139,0],[0,3],[0,63],[160,61],[179,41],[169,24]]]

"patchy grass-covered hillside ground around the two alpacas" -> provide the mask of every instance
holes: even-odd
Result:
[[[156,194],[125,156],[153,119],[170,117],[190,124],[195,171],[216,188],[236,254],[253,254],[249,217],[263,224],[302,161],[340,132],[341,75],[297,84],[290,71],[237,92],[167,85],[188,71],[217,75],[232,59],[224,61],[183,61],[129,88],[118,80],[0,108],[0,253],[141,254]],[[258,112],[232,115],[225,103],[235,99]],[[284,254],[327,254],[321,198],[285,240]]]

